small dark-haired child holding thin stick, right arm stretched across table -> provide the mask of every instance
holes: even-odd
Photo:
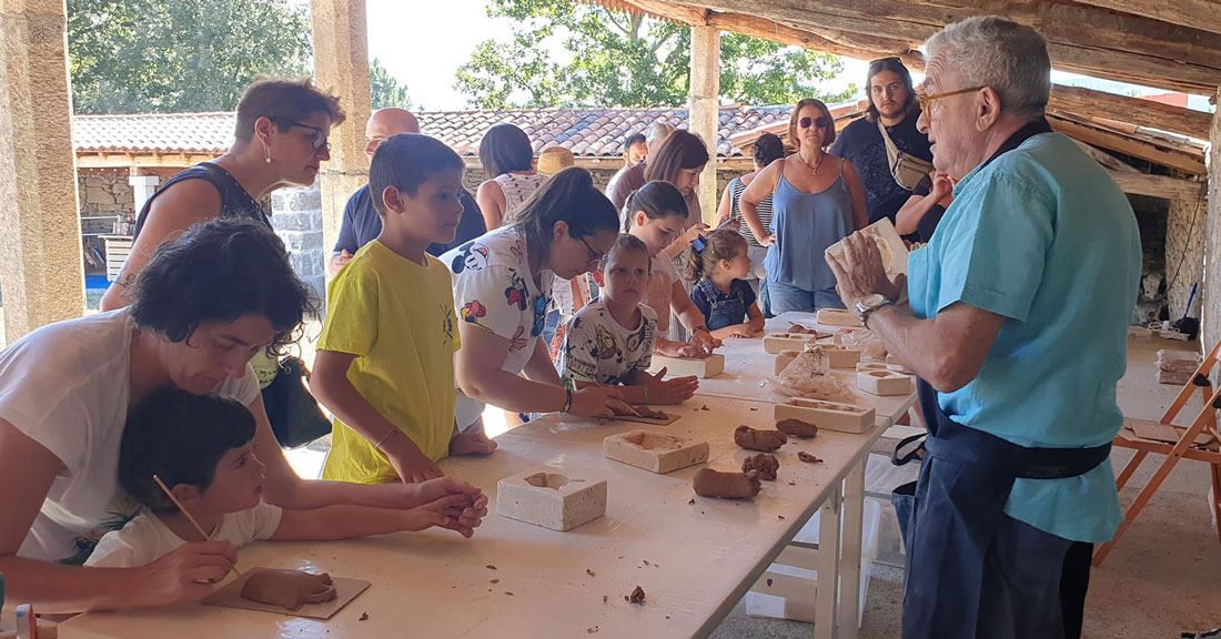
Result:
[[[282,510],[263,501],[264,465],[254,451],[255,421],[223,395],[166,389],[142,402],[127,419],[118,457],[118,483],[145,509],[121,530],[106,533],[85,566],[137,567],[189,541],[205,541],[154,482],[159,476],[182,506],[209,530],[206,540],[234,549],[256,539],[328,540],[440,526],[470,537],[486,507],[481,496],[462,511],[460,500],[410,510],[326,506]]]

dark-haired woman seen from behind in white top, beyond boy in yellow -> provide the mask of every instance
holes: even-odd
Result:
[[[501,228],[530,195],[543,177],[534,170],[534,149],[526,132],[513,124],[497,124],[479,143],[479,161],[486,182],[479,185],[475,202],[484,213],[488,230]]]

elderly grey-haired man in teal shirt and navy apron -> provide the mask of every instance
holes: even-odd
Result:
[[[1093,544],[1122,519],[1110,443],[1140,277],[1127,198],[1044,118],[1046,40],[998,17],[927,43],[918,127],[957,182],[890,282],[872,240],[828,257],[849,309],[919,376],[928,455],[904,637],[1079,637]],[[911,307],[899,307],[907,287]]]

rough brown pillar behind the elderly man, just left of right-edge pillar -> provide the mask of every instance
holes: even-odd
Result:
[[[1201,298],[1206,207],[1206,202],[1197,200],[1176,198],[1170,201],[1170,215],[1166,217],[1166,282],[1170,288],[1166,290],[1166,299],[1170,304],[1171,320],[1178,320],[1188,312],[1187,301],[1192,296],[1193,284],[1199,287],[1195,290],[1195,300],[1192,301],[1192,309],[1195,310],[1192,316],[1199,317],[1199,310],[1204,307]]]

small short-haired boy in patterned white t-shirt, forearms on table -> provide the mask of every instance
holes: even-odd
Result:
[[[639,238],[623,234],[596,276],[602,296],[568,323],[559,354],[559,374],[576,388],[624,385],[628,404],[683,404],[695,394],[695,377],[662,379],[648,374],[657,340],[657,313],[641,304],[648,289],[652,257]]]

